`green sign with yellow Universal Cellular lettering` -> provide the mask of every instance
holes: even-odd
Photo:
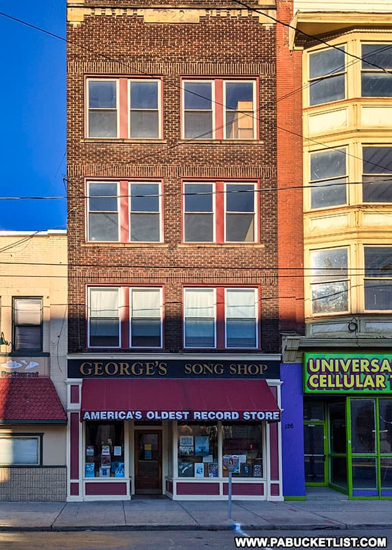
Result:
[[[305,353],[305,393],[391,393],[392,354]]]

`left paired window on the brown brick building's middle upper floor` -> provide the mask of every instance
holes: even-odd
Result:
[[[161,241],[161,184],[157,181],[88,181],[89,241]]]

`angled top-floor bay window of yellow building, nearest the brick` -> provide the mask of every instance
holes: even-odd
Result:
[[[343,51],[341,51],[343,50]],[[310,105],[345,98],[345,46],[309,55]]]

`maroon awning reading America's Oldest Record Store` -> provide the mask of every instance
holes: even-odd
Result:
[[[266,380],[83,380],[81,420],[279,421]]]

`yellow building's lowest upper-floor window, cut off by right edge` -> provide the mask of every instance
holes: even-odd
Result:
[[[365,246],[365,310],[392,309],[392,247]]]

